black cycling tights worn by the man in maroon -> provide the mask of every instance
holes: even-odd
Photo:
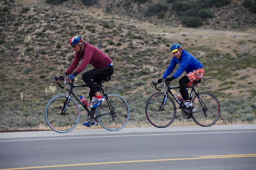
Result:
[[[82,79],[90,88],[90,101],[92,100],[92,96],[100,90],[100,87],[96,88],[94,82],[96,82],[96,84],[100,84],[102,79],[111,76],[112,74],[113,66],[99,67],[83,73]]]

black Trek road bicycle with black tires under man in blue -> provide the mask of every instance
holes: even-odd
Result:
[[[159,83],[151,82],[152,89],[154,85],[158,91],[161,91],[156,87]],[[211,93],[199,92],[195,88],[197,87],[197,83],[200,82],[201,79],[195,81],[192,86],[187,87],[191,89],[190,101],[192,101],[193,107],[182,109],[182,116],[186,119],[192,117],[195,122],[201,126],[211,126],[216,123],[220,117],[220,104],[217,98]],[[184,104],[182,104],[171,91],[171,89],[180,89],[180,86],[170,86],[170,81],[163,81],[161,84],[166,88],[164,92],[155,93],[149,98],[146,104],[146,116],[152,125],[158,128],[165,128],[175,119],[176,106],[174,100],[180,106]],[[193,93],[195,94],[194,98]],[[168,94],[170,94],[174,100]]]

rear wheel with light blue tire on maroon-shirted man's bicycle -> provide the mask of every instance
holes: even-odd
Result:
[[[120,130],[127,124],[130,117],[130,108],[128,103],[119,94],[109,94],[107,98],[111,102],[114,110],[110,109],[107,101],[100,104],[96,110],[96,115],[102,115],[97,117],[98,122],[106,130]],[[112,111],[115,111],[115,113],[103,115]]]

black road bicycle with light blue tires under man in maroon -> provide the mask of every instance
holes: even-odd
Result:
[[[58,77],[53,76],[55,80]],[[90,110],[85,106],[85,104],[80,100],[80,98],[72,91],[77,87],[88,87],[88,85],[75,85],[74,79],[71,83],[66,94],[60,94],[51,98],[45,108],[45,120],[52,130],[59,133],[66,133],[73,130],[80,119],[80,108],[76,100],[84,107],[88,112],[87,119],[91,123],[98,121],[100,125],[110,131],[117,131],[122,129],[128,122],[130,116],[130,109],[126,100],[119,94],[108,94],[103,86],[104,81],[109,81],[111,77],[103,79],[101,85],[95,85],[100,87],[99,92],[105,98],[105,101],[94,109]],[[66,83],[66,77],[65,77]],[[59,87],[63,88],[62,85],[57,82]],[[76,98],[71,97],[71,94]]]

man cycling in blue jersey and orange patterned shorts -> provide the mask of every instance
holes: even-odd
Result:
[[[177,79],[185,70],[186,75],[179,79],[180,84],[180,94],[182,98],[185,100],[184,105],[180,106],[180,109],[186,109],[188,107],[192,107],[192,103],[189,100],[188,89],[187,86],[193,85],[194,81],[197,81],[204,76],[203,64],[200,63],[198,59],[196,59],[192,54],[188,53],[186,50],[182,50],[180,44],[173,44],[170,48],[173,53],[173,58],[171,60],[170,65],[166,69],[162,78],[158,79],[158,83],[161,83],[162,80],[165,81],[173,81]],[[173,76],[167,78],[169,76],[176,65],[179,64],[180,67],[173,74]]]

